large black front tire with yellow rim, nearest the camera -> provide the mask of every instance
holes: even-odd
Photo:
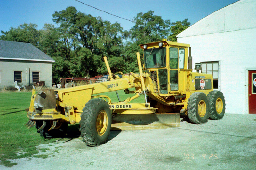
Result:
[[[112,111],[101,98],[89,100],[81,114],[80,132],[83,142],[88,146],[104,144],[110,134]]]

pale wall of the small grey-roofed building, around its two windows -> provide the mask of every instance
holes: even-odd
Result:
[[[29,85],[32,83],[32,72],[39,72],[39,81],[45,81],[45,85],[52,86],[52,62],[33,62],[22,60],[0,60],[0,89],[5,87],[14,87],[14,71],[22,71],[22,83],[20,85]]]

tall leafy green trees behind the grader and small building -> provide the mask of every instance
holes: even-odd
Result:
[[[177,41],[176,35],[190,26],[188,19],[171,22],[154,15],[154,11],[138,13],[135,25],[123,30],[118,22],[111,24],[101,17],[78,12],[75,7],[52,14],[59,26],[24,23],[9,31],[1,31],[1,40],[31,43],[55,60],[52,63],[53,82],[62,77],[93,77],[107,74],[103,56],[108,57],[112,72],[138,72],[136,52],[139,44]]]

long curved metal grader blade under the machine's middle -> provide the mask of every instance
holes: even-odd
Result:
[[[180,126],[180,114],[116,114],[111,130],[143,130]]]

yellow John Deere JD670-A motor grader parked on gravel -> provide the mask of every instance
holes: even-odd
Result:
[[[99,146],[106,142],[111,126],[116,130],[165,128],[180,126],[180,114],[195,124],[224,116],[224,96],[213,91],[212,75],[192,72],[189,44],[163,39],[140,47],[144,55],[143,71],[137,53],[140,74],[115,76],[104,57],[110,81],[37,94],[33,90],[26,125],[36,125],[43,137],[58,137],[66,133],[68,124],[79,123],[85,144]],[[135,95],[120,101],[117,91],[122,89]],[[112,91],[119,102],[99,95]],[[140,95],[145,103],[132,103]]]

